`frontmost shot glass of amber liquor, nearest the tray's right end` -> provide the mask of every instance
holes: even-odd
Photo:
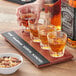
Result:
[[[52,57],[61,57],[65,52],[67,35],[61,31],[49,32],[47,35],[49,53]]]

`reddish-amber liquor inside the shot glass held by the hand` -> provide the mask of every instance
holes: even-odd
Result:
[[[28,13],[28,14],[23,14],[21,16],[21,22],[22,22],[22,25],[25,26],[25,27],[28,27],[28,20],[30,23],[34,23],[35,22],[35,16],[34,14],[31,14],[31,13]]]

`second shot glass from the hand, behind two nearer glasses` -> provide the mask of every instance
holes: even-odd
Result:
[[[45,22],[44,19],[39,19],[39,21],[35,21],[35,23],[29,21],[30,38],[33,42],[40,42],[38,37],[38,26],[44,25]]]

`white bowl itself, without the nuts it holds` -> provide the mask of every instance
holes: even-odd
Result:
[[[21,65],[23,63],[22,56],[15,54],[15,53],[0,54],[0,57],[4,57],[4,56],[16,57],[21,61],[21,63],[19,63],[18,65],[14,66],[14,67],[10,67],[10,68],[0,68],[0,74],[12,74],[12,73],[16,72],[21,67]]]

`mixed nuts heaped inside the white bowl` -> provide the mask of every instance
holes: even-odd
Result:
[[[0,68],[10,68],[21,63],[16,57],[4,56],[0,57]]]

